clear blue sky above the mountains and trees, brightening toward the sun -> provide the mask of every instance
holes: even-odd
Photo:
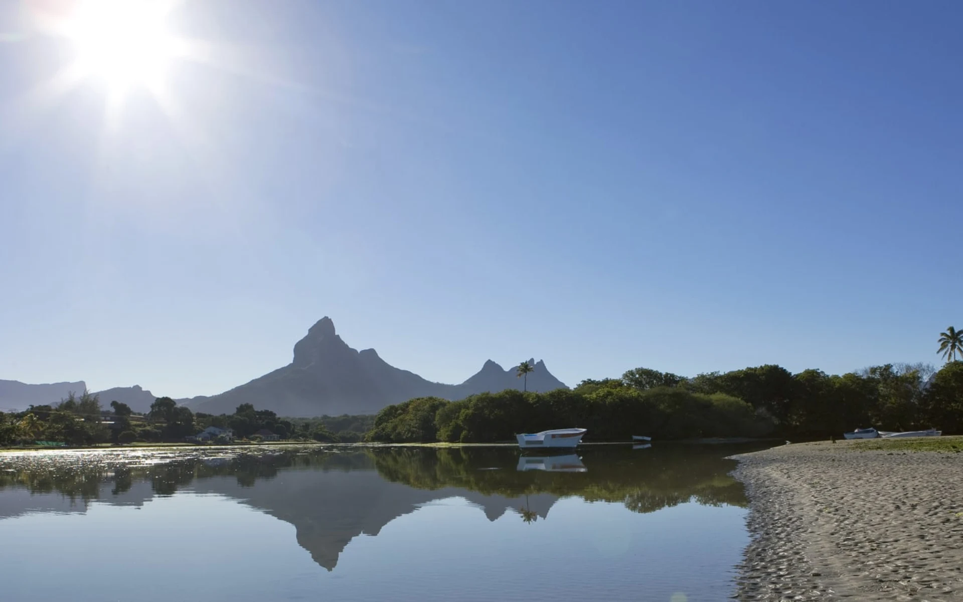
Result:
[[[448,382],[963,327],[958,2],[188,0],[163,61],[70,5],[0,3],[0,379],[215,394],[325,315]]]

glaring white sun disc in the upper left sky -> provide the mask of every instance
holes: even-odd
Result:
[[[178,40],[167,29],[169,2],[81,0],[65,20],[63,33],[77,50],[77,65],[104,78],[112,88],[163,83]]]

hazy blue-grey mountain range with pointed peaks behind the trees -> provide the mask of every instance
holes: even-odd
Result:
[[[545,367],[534,359],[534,372],[528,376],[530,391],[565,388]],[[19,388],[10,396],[3,388],[14,383]],[[41,387],[31,389],[31,387]],[[42,388],[47,387],[47,388]],[[72,387],[72,388],[71,388]],[[28,385],[13,380],[0,380],[0,410],[4,407],[23,409],[31,404],[56,404],[68,391],[80,394],[83,381],[56,385]],[[271,409],[281,416],[320,416],[322,414],[374,413],[384,406],[398,404],[415,397],[435,396],[459,400],[485,391],[521,389],[514,367],[503,369],[488,360],[475,376],[461,384],[444,384],[425,380],[413,372],[395,368],[381,359],[374,349],[351,349],[335,332],[330,318],[323,318],[295,344],[294,359],[283,368],[246,384],[210,397],[177,400],[194,411],[211,414],[232,413],[241,404],[258,409]],[[156,399],[140,386],[116,387],[99,391],[100,402],[122,402],[134,411],[145,412]],[[10,401],[8,401],[10,400]],[[29,400],[23,403],[20,400]],[[14,403],[14,401],[18,403]]]

